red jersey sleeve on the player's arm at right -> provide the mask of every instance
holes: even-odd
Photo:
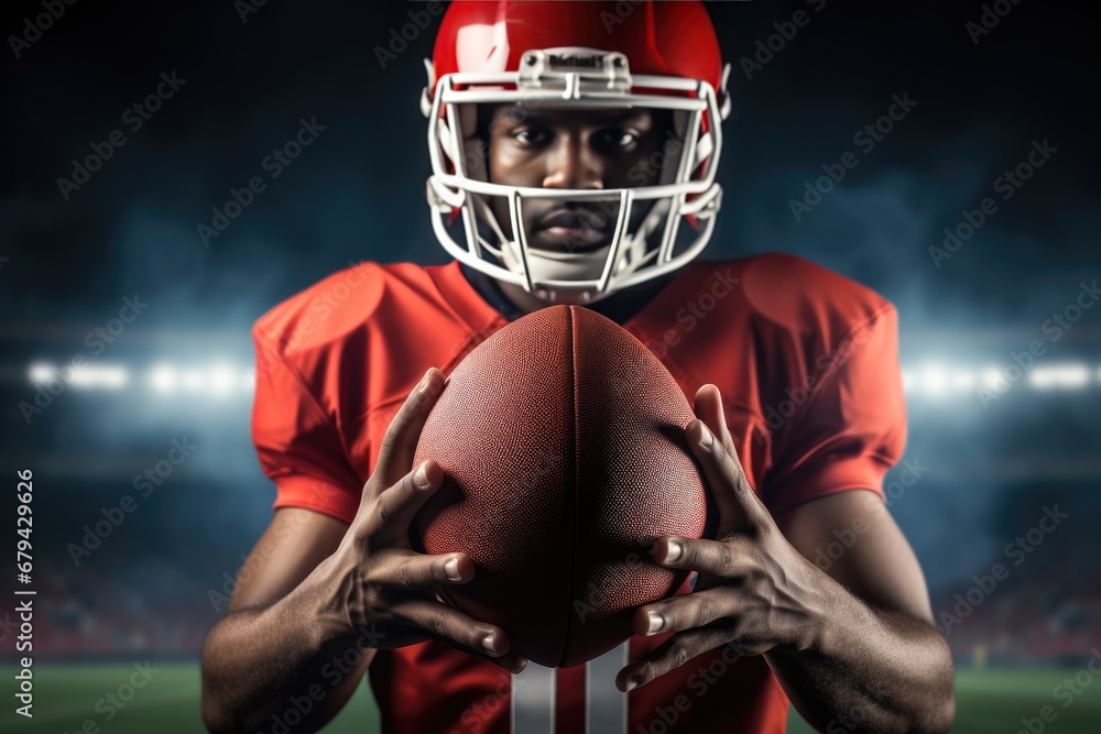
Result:
[[[883,497],[883,476],[906,443],[894,307],[850,329],[808,374],[809,397],[782,430],[765,504],[777,514],[844,490]]]

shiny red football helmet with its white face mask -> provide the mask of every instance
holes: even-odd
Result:
[[[425,65],[428,204],[437,238],[457,260],[544,300],[591,303],[684,266],[707,244],[721,199],[715,171],[730,67],[701,2],[456,0]],[[671,110],[675,134],[653,185],[506,186],[489,180],[488,147],[476,134],[477,106],[501,103]],[[506,202],[514,235],[497,221],[493,197]],[[595,252],[531,247],[522,211],[532,199],[598,202],[614,222],[610,242]],[[685,244],[682,217],[695,231]]]

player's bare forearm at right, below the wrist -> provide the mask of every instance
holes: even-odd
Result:
[[[822,585],[810,646],[765,654],[799,713],[820,732],[947,732],[952,661],[937,629]]]

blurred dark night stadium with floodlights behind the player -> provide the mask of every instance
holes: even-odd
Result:
[[[197,654],[273,496],[249,441],[250,325],[350,263],[446,259],[425,216],[417,109],[438,19],[384,69],[374,51],[427,7],[78,2],[35,35],[25,19],[43,6],[6,3],[2,536],[14,546],[14,472],[29,467],[37,596],[30,722],[13,713],[18,584],[4,550],[3,731],[199,728]],[[710,8],[735,68],[723,211],[705,256],[797,253],[898,306],[906,458],[919,476],[889,476],[891,511],[935,610],[959,617],[945,623],[956,731],[1023,731],[1023,719],[1097,731],[1101,683],[1086,666],[1101,646],[1101,308],[1079,311],[1058,340],[1045,329],[1055,314],[1071,324],[1081,284],[1101,274],[1094,30],[1081,8],[1005,0],[989,3],[999,22],[974,37],[977,1]],[[776,35],[797,10],[809,22]],[[759,53],[746,78],[739,59]],[[186,83],[132,131],[123,110],[173,72]],[[874,150],[855,146],[904,94],[913,110]],[[263,158],[313,118],[325,130],[269,178]],[[115,129],[126,144],[63,195],[58,177]],[[1057,152],[1002,200],[995,179],[1045,140]],[[848,150],[859,165],[796,221],[789,200]],[[266,189],[205,247],[197,226],[257,175]],[[935,262],[944,229],[988,196],[998,211]],[[148,308],[133,322],[110,343],[88,339],[122,326],[111,319],[135,294]],[[1009,368],[1034,341],[1043,354]],[[29,424],[19,404],[76,354],[88,366]],[[985,405],[984,385],[996,388]],[[173,440],[196,447],[178,465],[164,463]],[[161,483],[140,496],[146,469]],[[90,548],[88,528],[127,494],[133,512],[74,559],[73,544]],[[1034,532],[1014,563],[1007,544],[1028,544],[1056,505],[1066,519]],[[995,563],[1007,578],[980,588]],[[160,672],[124,709],[97,706],[146,660]],[[1045,705],[1055,722],[1037,719]],[[374,721],[364,689],[333,731]]]

